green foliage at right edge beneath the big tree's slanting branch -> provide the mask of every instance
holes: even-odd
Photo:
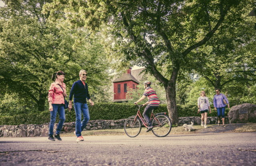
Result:
[[[254,19],[247,14],[251,8],[251,4],[245,4],[232,26],[230,20],[223,22],[205,47],[191,52],[197,54],[197,58],[190,66],[207,80],[206,84],[229,92],[233,90],[229,87],[231,84],[255,85],[256,36],[252,31]]]

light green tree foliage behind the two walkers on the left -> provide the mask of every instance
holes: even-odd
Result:
[[[52,73],[58,70],[66,73],[67,92],[81,69],[88,73],[86,83],[93,97],[100,86],[111,83],[101,34],[57,28],[48,21],[49,14],[42,14],[47,2],[52,1],[8,0],[0,8],[0,94],[17,93],[18,98],[32,100],[39,111],[45,110]],[[105,94],[100,92],[97,101],[106,102],[100,98]]]

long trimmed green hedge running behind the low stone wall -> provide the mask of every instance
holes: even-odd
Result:
[[[134,104],[123,104],[123,103],[98,103],[94,106],[88,106],[90,112],[90,120],[117,120],[128,118],[132,115],[136,115],[137,106]],[[201,116],[200,113],[197,114],[197,106],[194,105],[178,105],[178,116],[186,117],[186,116]],[[144,107],[145,108],[145,107]],[[217,111],[212,109],[212,113],[209,116],[217,116]],[[140,109],[142,114],[143,109]],[[168,110],[166,104],[161,104],[154,113],[166,112],[168,114]],[[66,120],[65,122],[75,122],[76,115],[74,109],[70,112],[65,110]],[[227,116],[228,111],[225,112],[225,116]],[[83,119],[83,117],[82,117]],[[19,125],[19,124],[43,124],[50,122],[50,112],[33,112],[29,114],[19,114],[14,116],[1,116],[0,117],[0,125]],[[56,117],[56,123],[59,122],[59,117]]]

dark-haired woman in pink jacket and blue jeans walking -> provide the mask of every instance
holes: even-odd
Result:
[[[49,102],[49,111],[51,113],[51,121],[49,126],[49,138],[48,141],[61,141],[60,138],[60,130],[65,122],[65,109],[64,109],[64,97],[66,94],[66,85],[64,84],[65,73],[62,71],[58,71],[52,74],[52,81],[55,81],[51,84],[50,90],[48,93],[48,102]],[[60,122],[56,129],[56,134],[53,137],[53,128],[54,123],[56,121],[57,112],[60,116]],[[55,139],[54,139],[55,138]]]

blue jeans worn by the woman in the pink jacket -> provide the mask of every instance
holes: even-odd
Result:
[[[60,122],[58,124],[58,127],[56,129],[56,134],[60,134],[60,130],[65,122],[65,109],[64,109],[64,104],[52,104],[53,110],[50,111],[51,113],[51,121],[50,121],[50,126],[49,126],[49,136],[53,136],[53,128],[54,128],[54,123],[56,121],[56,115],[57,112],[60,116]]]

